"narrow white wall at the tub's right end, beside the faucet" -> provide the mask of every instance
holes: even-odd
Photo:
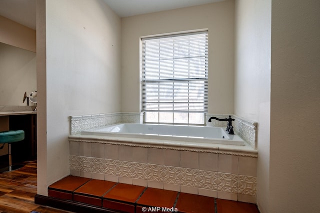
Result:
[[[271,0],[235,1],[234,113],[258,123],[257,205],[268,213]]]

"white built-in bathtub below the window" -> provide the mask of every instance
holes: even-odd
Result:
[[[103,136],[116,141],[150,141],[173,145],[237,145],[245,146],[238,135],[229,135],[221,127],[121,123],[82,131],[81,135]]]

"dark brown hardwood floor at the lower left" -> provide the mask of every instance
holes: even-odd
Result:
[[[69,213],[34,204],[36,161],[0,174],[0,213]]]

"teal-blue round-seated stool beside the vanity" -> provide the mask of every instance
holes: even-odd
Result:
[[[0,144],[3,144],[0,149],[3,148],[4,144],[8,144],[9,150],[9,166],[0,169],[0,172],[10,172],[13,170],[17,170],[23,165],[13,165],[11,160],[11,143],[22,141],[24,139],[24,131],[23,130],[15,130],[15,131],[5,131],[0,132]]]

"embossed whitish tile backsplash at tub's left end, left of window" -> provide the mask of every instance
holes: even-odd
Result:
[[[143,121],[143,113],[103,113],[95,115],[70,116],[69,119],[70,135],[75,135],[84,130],[103,127],[111,124],[140,123]]]

